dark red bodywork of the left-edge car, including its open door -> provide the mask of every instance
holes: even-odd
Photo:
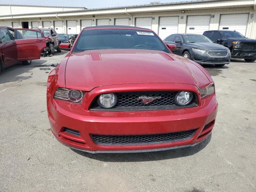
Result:
[[[28,30],[42,33],[36,29],[23,29],[23,28],[10,28],[6,26],[0,26],[0,31],[3,29],[8,30]],[[15,31],[16,33],[16,31]],[[43,34],[42,34],[43,36]],[[26,39],[12,39],[6,42],[0,43],[0,58],[2,61],[2,67],[7,68],[16,64],[18,61],[35,60],[40,59],[42,50],[46,48],[46,42],[44,37],[42,38],[26,38]]]

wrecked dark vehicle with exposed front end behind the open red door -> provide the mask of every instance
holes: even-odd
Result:
[[[44,33],[44,37],[46,40],[46,48],[49,49],[50,54],[54,54],[54,50],[57,52],[61,52],[59,48],[60,45],[60,37],[56,33],[56,31],[52,28],[39,28]]]

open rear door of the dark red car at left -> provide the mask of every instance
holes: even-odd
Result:
[[[14,35],[18,61],[40,59],[42,50],[46,48],[46,42],[41,32],[17,28],[14,30]]]

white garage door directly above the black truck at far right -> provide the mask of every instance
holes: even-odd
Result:
[[[245,36],[248,23],[248,13],[246,14],[225,14],[220,16],[219,30],[236,30]]]

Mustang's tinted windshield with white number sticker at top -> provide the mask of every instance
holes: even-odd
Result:
[[[169,53],[154,32],[127,29],[84,30],[73,52],[97,49],[146,49]]]

